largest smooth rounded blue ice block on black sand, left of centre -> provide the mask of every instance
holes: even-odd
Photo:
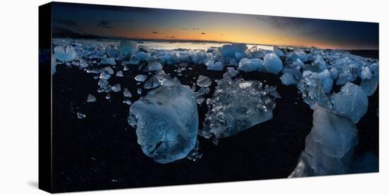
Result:
[[[199,118],[192,90],[183,85],[151,90],[129,109],[138,143],[156,162],[185,158],[197,140]]]

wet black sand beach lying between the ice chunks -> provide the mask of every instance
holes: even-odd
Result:
[[[221,78],[224,72],[207,71],[204,65],[195,67],[192,71],[184,71],[184,76],[178,76],[182,84],[192,85],[198,74]],[[166,73],[174,76],[173,69],[176,68],[164,67]],[[110,84],[120,83],[122,90],[128,88],[134,102],[139,95],[133,77],[140,72],[131,66],[130,70],[132,73],[124,71],[122,78],[112,76]],[[144,155],[137,144],[135,129],[127,124],[129,106],[122,103],[122,91],[111,92],[111,100],[106,100],[105,93],[97,92],[98,80],[93,76],[95,74],[74,66],[58,65],[53,77],[56,192],[285,178],[294,170],[312,126],[313,111],[303,102],[296,86],[282,85],[280,75],[239,74],[245,79],[277,85],[282,98],[277,99],[273,119],[223,138],[218,146],[199,137],[201,159],[196,162],[183,159],[163,165]],[[215,82],[211,85],[207,98],[213,94],[215,85]],[[88,93],[95,95],[97,101],[86,102]],[[142,95],[145,94],[144,90]],[[377,108],[378,90],[369,97],[368,112],[357,125],[359,145],[356,155],[366,151],[378,155]],[[78,119],[76,112],[86,114],[86,119]],[[206,112],[205,104],[199,107],[200,124]]]

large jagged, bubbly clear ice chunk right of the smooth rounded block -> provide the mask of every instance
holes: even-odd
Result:
[[[260,124],[273,117],[275,88],[262,87],[260,81],[243,81],[242,78],[218,81],[214,96],[207,100],[210,107],[200,135],[205,138],[225,138]],[[277,93],[278,94],[278,93]]]

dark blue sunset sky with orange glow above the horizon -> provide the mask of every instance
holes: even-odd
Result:
[[[53,27],[132,39],[378,49],[378,23],[54,3]]]

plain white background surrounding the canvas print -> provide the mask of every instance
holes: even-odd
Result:
[[[388,69],[385,66],[388,66],[389,57],[389,6],[386,1],[83,0],[71,2],[380,23],[380,173],[121,189],[78,194],[388,194],[389,137],[387,131],[389,127],[388,114],[385,112],[388,104],[385,102],[389,97],[385,90],[388,86],[388,78],[385,78],[388,76]],[[45,3],[47,1],[16,0],[0,3],[0,194],[46,194],[37,189],[37,7]]]

